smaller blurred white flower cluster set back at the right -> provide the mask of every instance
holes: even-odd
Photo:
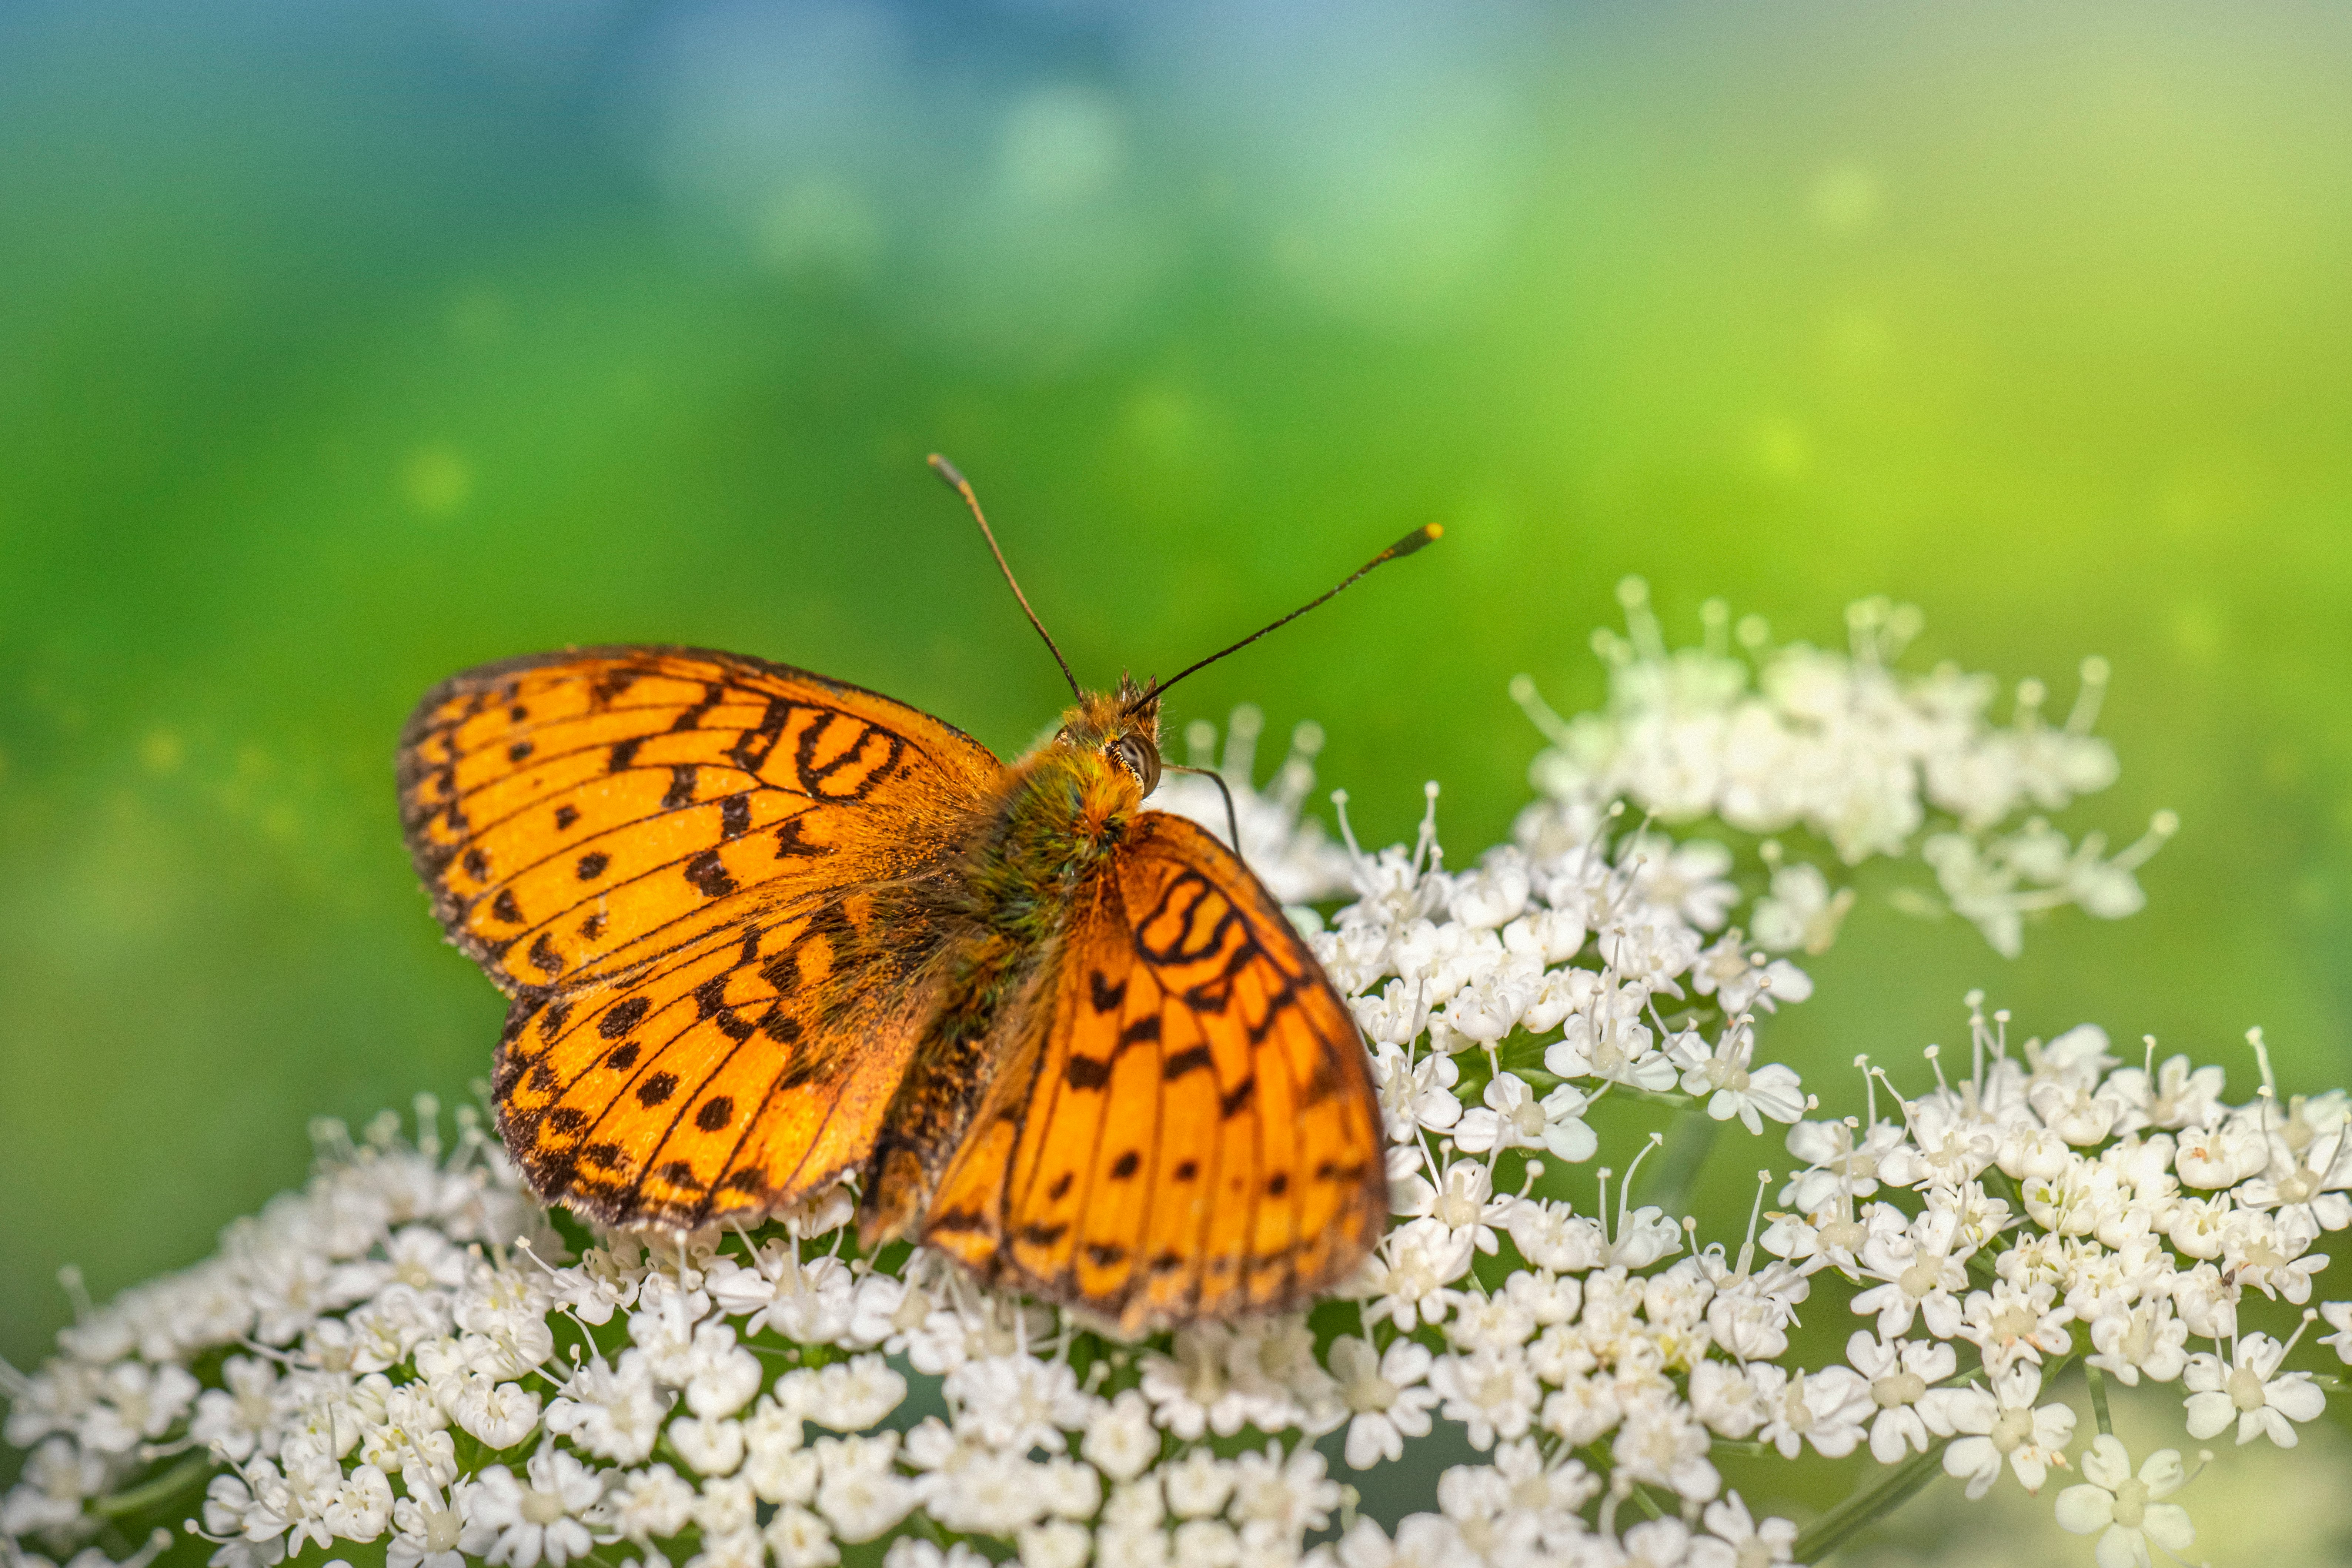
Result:
[[[1623,799],[1663,823],[1712,816],[1755,835],[1802,830],[1846,865],[1917,846],[1945,905],[2006,957],[2018,954],[2027,914],[2077,905],[2119,919],[2145,903],[2133,872],[2176,832],[2169,811],[2112,856],[2098,832],[2074,844],[2042,816],[2011,825],[2114,783],[2114,750],[2091,733],[2107,689],[2103,658],[2082,663],[2063,724],[2044,719],[2037,679],[2018,682],[2011,722],[1994,724],[1990,675],[1893,668],[1919,635],[1910,604],[1849,607],[1851,654],[1773,646],[1771,628],[1748,616],[1738,656],[1722,599],[1703,607],[1696,649],[1665,646],[1642,578],[1625,578],[1618,599],[1628,637],[1595,632],[1609,663],[1604,712],[1562,719],[1534,682],[1512,682],[1552,741],[1531,778],[1573,820]],[[1788,870],[1790,891],[1773,889],[1780,907],[1757,910],[1759,940],[1776,950],[1809,947],[1844,914],[1818,870]],[[1924,893],[1912,905],[1943,910]]]

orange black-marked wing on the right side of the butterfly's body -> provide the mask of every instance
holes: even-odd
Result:
[[[1143,1328],[1279,1312],[1378,1241],[1381,1107],[1355,1020],[1192,823],[1138,818],[1021,1051],[924,1227],[983,1276]]]

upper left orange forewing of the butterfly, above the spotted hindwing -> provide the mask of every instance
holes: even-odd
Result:
[[[804,670],[588,649],[426,696],[400,804],[435,914],[513,994],[936,867],[1002,771],[962,731]]]

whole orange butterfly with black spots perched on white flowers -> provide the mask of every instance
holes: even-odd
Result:
[[[539,654],[430,691],[402,823],[513,999],[494,1100],[532,1187],[682,1232],[861,1173],[866,1246],[913,1234],[1129,1331],[1352,1272],[1388,1213],[1369,1060],[1249,867],[1143,809],[1169,684],[1073,677],[1011,766],[736,654]]]

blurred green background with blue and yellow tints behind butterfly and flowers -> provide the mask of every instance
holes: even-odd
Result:
[[[393,811],[442,675],[701,642],[1018,750],[929,449],[1091,679],[1442,520],[1171,717],[1319,719],[1378,839],[1444,780],[1456,860],[1628,571],[2105,654],[2067,825],[2180,811],[2150,910],[1865,905],[1766,1048],[1985,985],[2343,1081],[2347,71],[2317,2],[0,7],[0,1354],[485,1072]]]

